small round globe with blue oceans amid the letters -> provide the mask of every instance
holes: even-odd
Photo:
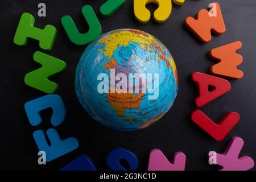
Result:
[[[85,49],[75,89],[86,112],[104,126],[131,131],[158,121],[178,88],[174,59],[154,36],[133,29],[110,31]]]

